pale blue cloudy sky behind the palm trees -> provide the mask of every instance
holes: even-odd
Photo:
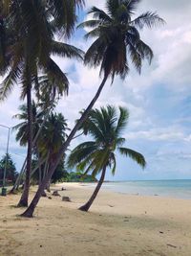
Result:
[[[92,7],[104,9],[105,1],[87,0],[79,22],[87,19],[85,13]],[[131,159],[117,155],[117,172],[109,170],[107,180],[147,180],[191,178],[191,1],[142,0],[137,14],[158,12],[166,24],[140,32],[142,39],[154,51],[151,65],[144,63],[138,75],[132,67],[125,81],[108,81],[96,107],[122,105],[130,112],[128,127],[124,130],[125,146],[141,152],[147,161],[142,170]],[[86,51],[92,41],[77,31],[69,43]],[[73,128],[78,111],[88,105],[101,81],[98,69],[89,69],[76,60],[54,60],[68,74],[69,96],[60,100],[56,110],[67,118]],[[17,113],[19,87],[15,86],[9,99],[0,104],[0,124],[13,126]],[[7,129],[0,128],[0,156],[6,151]],[[11,133],[10,152],[17,170],[25,159],[26,149],[20,148]],[[86,138],[74,140],[73,148]]]

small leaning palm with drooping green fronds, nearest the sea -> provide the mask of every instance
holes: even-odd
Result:
[[[93,195],[79,210],[86,212],[89,210],[101,188],[107,168],[112,169],[112,175],[115,175],[116,151],[132,158],[142,168],[145,167],[146,162],[142,154],[123,147],[125,138],[121,135],[127,126],[129,113],[123,107],[119,107],[119,111],[117,116],[117,108],[111,105],[101,107],[100,110],[92,110],[86,128],[88,127],[87,133],[93,137],[93,140],[81,143],[69,156],[70,168],[76,166],[78,170],[84,171],[84,175],[89,172],[93,176],[101,174]]]

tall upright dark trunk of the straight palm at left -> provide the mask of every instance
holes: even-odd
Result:
[[[29,80],[28,88],[27,88],[27,108],[28,108],[28,130],[29,130],[27,170],[26,170],[24,190],[20,198],[20,201],[18,202],[18,207],[28,207],[30,179],[31,179],[31,173],[32,173],[32,84],[31,84],[31,80]]]

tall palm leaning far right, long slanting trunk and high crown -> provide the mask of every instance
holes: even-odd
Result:
[[[107,12],[93,7],[89,12],[93,14],[93,19],[79,25],[80,28],[93,28],[91,32],[85,35],[86,38],[96,37],[95,42],[85,54],[85,64],[91,67],[100,66],[100,75],[103,74],[103,80],[96,91],[95,97],[75,124],[66,142],[54,159],[46,178],[32,199],[31,205],[22,216],[32,217],[41,193],[46,186],[46,182],[53,175],[63,153],[69,147],[75,132],[86,120],[109,77],[112,78],[112,81],[114,81],[116,75],[124,79],[129,71],[128,58],[129,61],[131,60],[134,63],[138,72],[140,72],[143,59],[146,58],[151,62],[153,52],[140,39],[138,30],[141,30],[145,26],[152,28],[158,24],[163,24],[164,21],[156,12],[145,12],[134,18],[139,2],[140,0],[107,0]]]

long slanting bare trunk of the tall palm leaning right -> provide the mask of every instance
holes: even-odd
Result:
[[[106,81],[107,81],[107,77],[104,77],[103,81],[101,82],[101,84],[98,87],[98,90],[97,90],[96,95],[93,98],[92,102],[90,103],[90,105],[88,105],[86,110],[83,112],[82,116],[80,117],[78,122],[75,124],[73,130],[71,131],[70,135],[68,136],[66,142],[63,144],[61,150],[58,152],[57,157],[54,159],[53,163],[50,165],[48,173],[45,176],[44,180],[42,181],[40,187],[38,188],[34,198],[32,199],[32,202],[31,202],[30,206],[28,207],[28,209],[21,216],[27,217],[27,218],[32,218],[34,209],[35,209],[35,207],[36,207],[36,205],[37,205],[37,203],[38,203],[38,201],[39,201],[39,199],[42,195],[43,190],[46,188],[47,183],[51,179],[51,177],[53,175],[53,172],[56,169],[57,165],[59,164],[64,152],[68,149],[71,141],[73,140],[74,134],[76,133],[78,128],[80,128],[80,126],[83,124],[83,122],[86,120],[86,118],[88,117],[89,112],[91,111],[93,106],[96,104],[96,100],[98,99]]]

